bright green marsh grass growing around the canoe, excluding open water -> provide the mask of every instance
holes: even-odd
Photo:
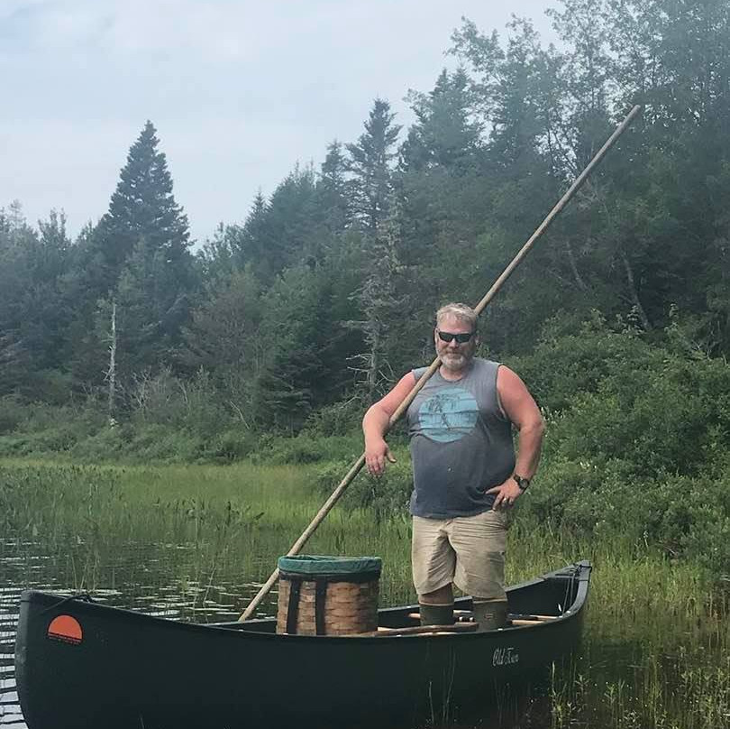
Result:
[[[397,457],[403,460],[405,450],[398,448]],[[189,550],[186,561],[157,577],[180,590],[262,582],[318,509],[321,477],[317,464],[92,466],[4,458],[0,520],[15,552],[42,545],[64,554],[59,565],[69,586],[114,589],[132,602],[114,559],[146,540]],[[549,725],[727,726],[730,604],[716,575],[701,561],[671,558],[625,531],[578,533],[535,521],[527,504],[525,497],[509,533],[509,583],[579,558],[595,568],[584,650],[552,678]],[[403,512],[378,514],[353,494],[305,551],[383,558],[380,604],[403,604],[414,600],[409,534]],[[11,549],[10,540],[3,549]],[[200,619],[195,612],[182,617]]]

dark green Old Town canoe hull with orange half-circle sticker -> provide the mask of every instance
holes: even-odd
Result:
[[[575,649],[589,574],[581,563],[512,588],[513,612],[563,612],[534,627],[373,638],[277,635],[272,621],[178,623],[28,592],[16,642],[19,699],[30,729],[355,726],[453,715]],[[403,624],[411,609],[380,611],[380,624]],[[74,631],[49,634],[59,616],[78,623],[80,640]]]

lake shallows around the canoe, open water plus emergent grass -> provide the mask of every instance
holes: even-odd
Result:
[[[207,497],[181,502],[175,496],[167,503],[163,497],[160,505],[157,496],[150,503],[129,496],[120,477],[105,471],[46,471],[23,466],[5,475],[11,489],[5,492],[11,494],[5,512],[13,514],[11,519],[0,512],[0,526],[3,517],[8,525],[0,534],[0,729],[24,726],[14,681],[14,633],[24,588],[88,592],[106,604],[183,621],[235,620],[315,512],[301,488],[292,487],[284,499],[278,482],[267,486],[270,496],[261,486],[254,507],[243,501],[226,505],[226,497],[217,505]],[[241,490],[242,473],[187,468],[176,473],[172,493],[182,489],[188,474],[196,488],[205,486],[207,475],[219,491],[225,477],[235,481],[232,494]],[[139,494],[151,491],[148,484],[154,484],[154,494],[164,494],[165,484],[155,478],[161,476],[145,473]],[[254,502],[251,494],[246,497]],[[260,521],[259,512],[266,512]],[[403,604],[412,599],[407,522],[381,526],[367,514],[333,512],[310,553],[383,556],[381,604]],[[151,535],[160,535],[158,541],[142,540]],[[550,555],[538,555],[545,570],[570,558],[594,562],[583,648],[545,693],[511,697],[477,725],[730,729],[730,610],[722,587],[710,592],[691,569],[651,555],[616,560],[613,545],[590,552],[585,544],[561,550],[545,543]],[[525,566],[538,561],[535,540],[525,535],[512,544],[509,564],[522,577],[534,575]],[[272,591],[257,615],[275,614],[276,601]]]

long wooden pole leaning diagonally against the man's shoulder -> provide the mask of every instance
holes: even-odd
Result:
[[[608,152],[608,150],[611,149],[611,147],[613,147],[613,145],[616,143],[616,140],[621,136],[621,134],[624,134],[628,126],[631,125],[631,123],[634,121],[634,117],[640,111],[641,106],[634,106],[634,108],[626,115],[624,121],[616,127],[614,133],[611,134],[610,137],[608,137],[606,143],[604,143],[604,145],[598,150],[598,152],[596,152],[596,155],[593,157],[593,159],[589,161],[586,169],[583,170],[573,182],[573,184],[570,185],[568,191],[562,196],[562,198],[560,198],[560,200],[555,205],[555,207],[552,208],[550,213],[548,213],[547,217],[545,217],[543,222],[537,227],[537,229],[535,230],[533,235],[530,236],[525,245],[522,246],[519,253],[516,254],[515,258],[512,259],[504,272],[502,272],[502,274],[499,276],[497,281],[494,282],[491,289],[487,291],[487,293],[479,301],[477,306],[474,307],[474,310],[477,312],[477,314],[480,314],[485,309],[489,301],[494,299],[497,291],[499,291],[499,289],[502,287],[502,284],[504,284],[504,282],[512,275],[512,272],[515,271],[516,267],[523,262],[525,256],[530,252],[537,239],[541,235],[543,235],[543,233],[545,232],[545,230],[547,230],[548,226],[550,226],[555,217],[557,217],[561,213],[561,210],[565,208],[565,206],[570,202],[570,199],[573,198],[573,196],[579,190],[582,184],[588,179],[590,173],[598,166],[598,163],[604,158],[604,156],[606,156],[606,153]],[[438,369],[440,364],[441,360],[436,357],[433,360],[431,366],[429,366],[424,374],[421,375],[418,382],[415,383],[411,392],[406,395],[406,399],[400,403],[400,405],[397,407],[397,410],[391,416],[388,423],[388,430],[391,429],[393,425],[395,425],[395,423],[397,423],[397,421],[401,419],[403,413],[406,412],[408,406],[411,404],[411,402],[414,401],[416,394],[421,391],[421,388],[424,386],[425,383],[428,382],[428,379]],[[363,453],[355,461],[355,463],[352,464],[350,470],[347,472],[347,474],[345,474],[344,478],[342,478],[342,481],[340,482],[340,484],[338,484],[337,488],[334,489],[333,493],[324,503],[324,506],[319,510],[319,512],[317,512],[315,518],[310,522],[309,526],[302,533],[299,539],[294,543],[292,548],[289,549],[289,551],[287,552],[287,557],[292,557],[298,554],[299,549],[302,549],[302,547],[304,547],[306,541],[312,536],[312,534],[314,534],[317,527],[324,521],[324,517],[332,510],[334,504],[340,500],[340,497],[344,493],[345,489],[351,484],[351,481],[355,478],[356,475],[360,473],[360,468],[362,468],[364,464],[365,454]],[[251,617],[253,611],[256,610],[256,608],[259,606],[264,596],[269,593],[269,590],[275,585],[277,579],[278,568],[271,573],[271,576],[266,581],[266,583],[261,586],[259,592],[243,611],[243,614],[239,618],[239,622],[248,620]]]

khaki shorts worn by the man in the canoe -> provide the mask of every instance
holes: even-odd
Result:
[[[413,518],[411,560],[418,595],[454,583],[462,592],[506,600],[507,516],[488,511],[452,519]]]

